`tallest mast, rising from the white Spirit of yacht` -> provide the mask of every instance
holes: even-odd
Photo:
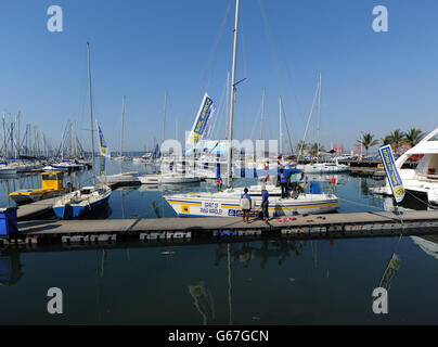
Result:
[[[236,57],[237,57],[237,29],[239,29],[239,4],[240,0],[235,1],[235,24],[234,24],[234,46],[233,46],[233,65],[231,69],[231,97],[230,97],[230,124],[228,130],[228,160],[227,160],[227,187],[232,187],[232,169],[231,169],[231,160],[232,160],[232,141],[233,141],[233,117],[234,117],[234,97],[235,97],[235,66],[236,66]]]

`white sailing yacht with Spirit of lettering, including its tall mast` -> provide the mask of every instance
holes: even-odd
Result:
[[[239,10],[240,0],[236,0],[235,7],[235,26],[234,44],[231,76],[231,98],[230,98],[230,120],[228,133],[228,157],[227,157],[227,185],[228,189],[222,192],[199,192],[189,194],[165,195],[167,203],[181,217],[237,217],[242,216],[240,198],[243,188],[232,188],[232,146],[233,139],[233,116],[235,101],[235,72],[236,72],[236,51],[239,33]],[[253,215],[258,215],[257,209],[261,203],[261,185],[248,187],[249,194],[255,203]],[[335,211],[339,208],[339,201],[334,194],[322,194],[313,192],[311,194],[299,194],[297,198],[282,198],[280,189],[273,184],[266,185],[270,194],[269,215],[291,216],[296,214],[321,214]]]

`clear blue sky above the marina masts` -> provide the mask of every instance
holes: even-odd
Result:
[[[63,9],[63,33],[49,33],[47,10]],[[293,141],[301,140],[323,74],[321,141],[356,146],[361,132],[382,138],[438,121],[438,2],[435,0],[241,0],[234,133],[258,138],[263,89],[265,134],[278,138],[279,95]],[[389,31],[372,30],[375,5]],[[228,9],[231,9],[228,17]],[[222,22],[224,25],[222,25]],[[220,103],[231,69],[233,0],[75,0],[0,2],[0,111],[22,113],[54,143],[67,119],[89,129],[87,40],[91,42],[94,113],[117,151],[123,95],[125,149],[151,149],[190,130],[207,91]],[[224,133],[218,113],[215,133]],[[315,118],[308,141],[314,142]],[[89,143],[86,130],[79,136]],[[286,145],[286,144],[285,144]]]

